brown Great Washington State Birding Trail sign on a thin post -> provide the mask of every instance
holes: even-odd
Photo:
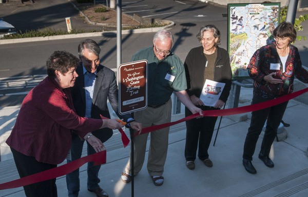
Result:
[[[119,113],[125,114],[147,107],[146,60],[121,64],[119,67]]]

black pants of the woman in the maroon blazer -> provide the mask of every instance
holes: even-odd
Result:
[[[55,168],[56,165],[37,162],[33,156],[27,156],[11,148],[18,174],[21,178]],[[56,197],[55,179],[24,186],[27,197]]]

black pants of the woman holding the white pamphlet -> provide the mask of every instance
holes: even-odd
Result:
[[[201,107],[202,111],[218,109],[208,106],[197,107]],[[189,116],[191,114],[192,113],[190,112],[190,110],[185,108],[185,116]],[[184,153],[186,161],[196,160],[198,144],[199,159],[208,159],[207,150],[213,136],[216,121],[217,116],[206,116],[200,117],[199,119],[192,119],[190,121],[186,121],[186,144]]]

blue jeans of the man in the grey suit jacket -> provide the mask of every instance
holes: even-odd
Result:
[[[75,135],[73,133],[73,135]],[[78,136],[73,137],[72,139],[72,147],[71,147],[71,160],[67,160],[67,163],[80,159],[82,154],[84,141],[82,141]],[[87,143],[87,151],[88,155],[95,153],[93,147]],[[99,187],[100,179],[99,179],[99,171],[101,165],[94,166],[94,162],[88,163],[87,173],[88,173],[88,180],[87,180],[87,187],[88,189],[96,189]],[[79,168],[74,170],[73,172],[66,175],[66,184],[68,190],[69,197],[76,197],[78,196],[80,190],[80,180],[79,180]]]

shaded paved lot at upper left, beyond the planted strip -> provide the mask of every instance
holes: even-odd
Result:
[[[72,1],[73,2],[73,1]],[[67,30],[66,17],[71,17],[76,30],[101,30],[102,27],[85,23],[79,11],[68,0],[30,0],[24,4],[20,0],[10,0],[0,4],[0,17],[12,24],[18,32],[50,28]]]

